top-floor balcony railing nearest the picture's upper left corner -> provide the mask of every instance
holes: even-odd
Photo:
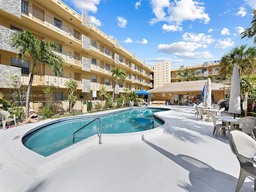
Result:
[[[78,42],[81,42],[81,34],[79,32],[64,25],[61,21],[52,18],[44,14],[44,12],[41,12],[40,10],[28,5],[26,2],[21,2],[21,11],[22,13],[28,15],[29,17],[32,17],[33,19],[36,19],[40,22],[43,22],[46,26],[51,27],[57,30],[58,32],[61,32],[62,34],[70,38],[73,38]]]

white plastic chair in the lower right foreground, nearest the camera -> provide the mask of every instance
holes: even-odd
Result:
[[[228,141],[232,152],[240,163],[240,174],[236,185],[236,192],[240,190],[246,176],[254,178],[254,190],[256,190],[256,162],[253,160],[256,152],[256,141],[242,131],[233,130],[228,135]]]

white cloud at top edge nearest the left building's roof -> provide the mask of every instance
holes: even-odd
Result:
[[[74,4],[74,7],[82,12],[96,13],[98,10],[96,5],[100,4],[100,0],[74,0],[70,1],[70,3]]]

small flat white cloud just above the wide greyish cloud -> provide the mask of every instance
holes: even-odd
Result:
[[[195,34],[195,33],[186,32],[182,35],[182,38],[183,40],[186,40],[186,41],[206,43],[206,44],[210,44],[215,41],[211,35],[205,35],[204,33]]]

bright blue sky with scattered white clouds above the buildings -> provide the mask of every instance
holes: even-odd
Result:
[[[241,44],[256,0],[63,0],[140,60],[171,68],[214,62]]]

